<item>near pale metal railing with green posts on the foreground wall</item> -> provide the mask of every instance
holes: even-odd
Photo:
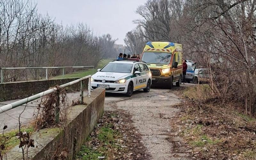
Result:
[[[69,85],[73,85],[73,84],[76,84],[76,83],[80,82],[80,90],[81,90],[80,91],[80,102],[84,102],[84,82],[83,82],[83,80],[87,79],[87,78],[89,78],[89,81],[88,81],[88,97],[91,97],[91,75],[85,76],[83,78],[77,79],[75,81],[72,81],[72,82],[69,82],[69,83],[66,83],[66,84],[62,84],[62,85],[60,85],[60,87],[65,88]],[[41,98],[41,97],[43,97],[47,94],[50,94],[54,91],[57,91],[57,90],[58,89],[56,87],[54,87],[54,88],[48,89],[44,92],[40,92],[40,93],[37,93],[33,96],[24,98],[22,100],[17,100],[15,102],[10,103],[10,104],[4,105],[4,106],[0,107],[0,114],[5,112],[5,111],[8,111],[12,108],[16,108],[16,107],[19,107],[21,105],[27,104],[28,102],[31,102],[32,100],[36,100],[38,98]],[[60,95],[58,94],[58,96],[59,96],[58,99],[60,100]],[[60,108],[59,107],[60,107],[60,104],[59,103],[56,104],[56,122],[57,123],[59,123],[59,121],[60,121],[60,114],[59,114],[59,112],[60,112],[59,109]]]

